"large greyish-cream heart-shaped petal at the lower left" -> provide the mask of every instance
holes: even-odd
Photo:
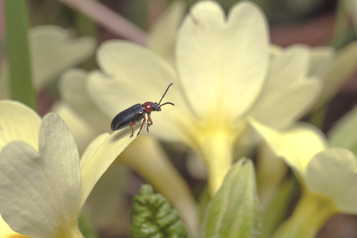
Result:
[[[77,223],[81,174],[69,128],[55,113],[39,131],[39,152],[23,141],[0,153],[0,212],[16,232],[58,237]]]

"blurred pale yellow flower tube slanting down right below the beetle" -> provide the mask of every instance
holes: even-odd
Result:
[[[118,157],[129,164],[161,193],[180,214],[192,235],[197,235],[197,207],[185,179],[166,157],[160,143],[152,137],[139,136]]]

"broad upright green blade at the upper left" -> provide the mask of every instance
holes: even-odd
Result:
[[[25,0],[5,0],[6,48],[9,62],[11,97],[37,109],[32,85],[29,50],[29,22]]]

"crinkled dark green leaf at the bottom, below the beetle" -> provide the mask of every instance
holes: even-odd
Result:
[[[145,184],[133,199],[131,208],[131,238],[186,238],[189,237],[177,211],[167,199],[154,194]]]

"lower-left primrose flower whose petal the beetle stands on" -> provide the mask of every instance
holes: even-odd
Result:
[[[84,202],[133,139],[128,133],[104,133],[80,160],[56,113],[41,121],[22,103],[2,100],[0,114],[0,214],[14,231],[1,230],[0,237],[83,237],[77,220]]]

